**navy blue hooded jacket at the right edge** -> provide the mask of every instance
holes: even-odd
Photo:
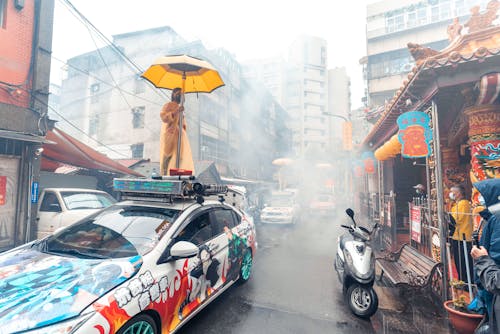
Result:
[[[474,187],[483,195],[488,207],[480,213],[483,219],[487,220],[480,245],[484,246],[490,257],[500,265],[500,179],[476,182]]]

